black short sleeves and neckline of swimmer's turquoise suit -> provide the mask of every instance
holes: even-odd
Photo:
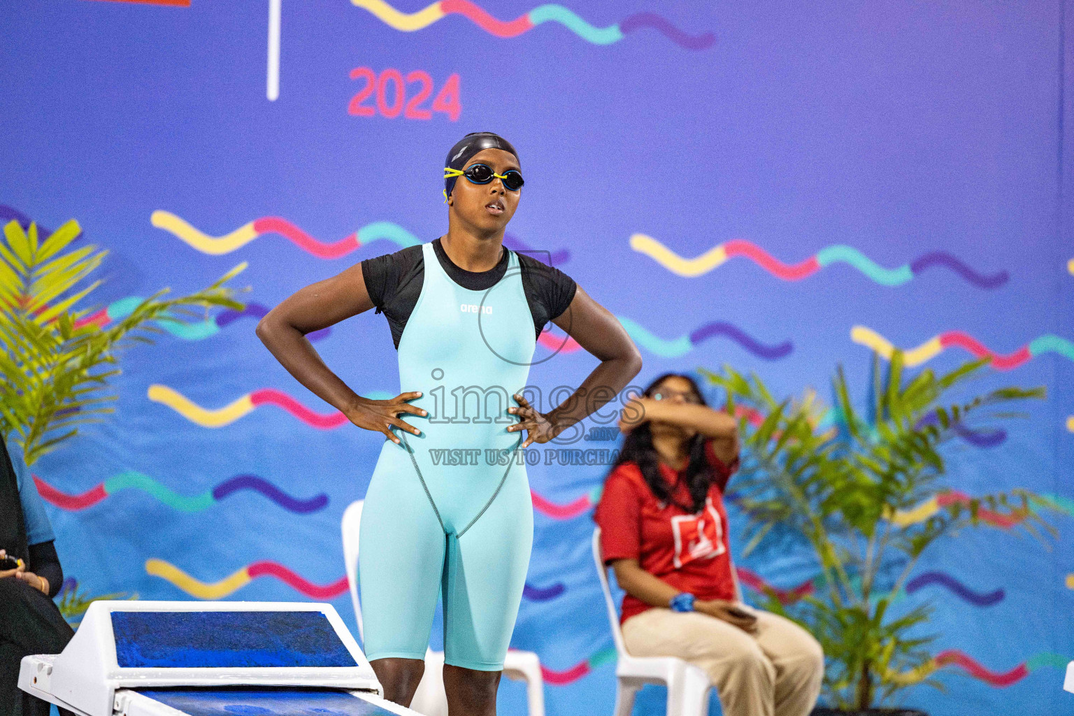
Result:
[[[445,273],[470,291],[491,289],[507,273],[506,250],[495,267],[483,272],[465,271],[452,263],[440,246],[439,238],[433,242],[433,251]],[[518,255],[522,269],[522,289],[533,317],[534,332],[540,336],[545,325],[558,318],[570,306],[577,286],[558,268],[524,253]],[[365,290],[373,305],[377,307],[376,312],[382,312],[388,319],[392,341],[395,344],[395,350],[398,350],[403,330],[410,313],[413,312],[413,307],[418,305],[425,278],[425,261],[421,246],[408,246],[394,253],[365,259],[362,261],[362,278],[365,280]]]

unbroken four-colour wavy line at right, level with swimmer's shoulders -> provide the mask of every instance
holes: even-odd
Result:
[[[785,264],[756,244],[741,238],[714,246],[694,259],[680,257],[661,242],[645,234],[632,235],[630,248],[650,257],[672,274],[688,278],[707,274],[723,265],[728,259],[742,257],[750,259],[772,276],[784,281],[800,281],[836,263],[848,264],[870,280],[888,287],[902,286],[933,266],[947,268],[979,289],[996,289],[1010,279],[1005,271],[988,276],[978,274],[945,251],[926,253],[898,268],[885,268],[854,247],[842,245],[821,249],[815,255],[797,264]]]

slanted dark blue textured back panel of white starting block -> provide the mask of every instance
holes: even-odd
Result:
[[[320,612],[113,612],[120,667],[357,667]]]

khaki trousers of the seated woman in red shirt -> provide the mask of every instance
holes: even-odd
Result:
[[[794,622],[757,612],[757,633],[700,612],[654,608],[623,624],[632,656],[676,656],[709,674],[724,716],[807,716],[821,692],[824,654]]]

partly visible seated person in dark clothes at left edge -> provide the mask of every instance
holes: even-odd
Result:
[[[20,560],[0,570],[0,716],[48,716],[47,701],[19,690],[19,662],[59,654],[74,637],[52,600],[63,584],[55,539],[23,451],[0,439],[0,559]]]

